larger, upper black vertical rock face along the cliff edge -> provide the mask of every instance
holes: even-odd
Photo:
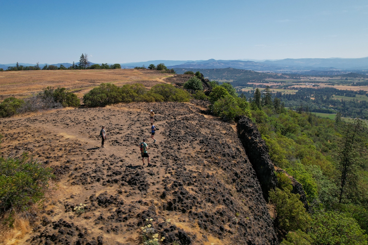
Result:
[[[277,178],[266,142],[248,117],[239,118],[237,129],[239,139],[261,184],[263,196],[268,200],[268,192],[276,187]]]

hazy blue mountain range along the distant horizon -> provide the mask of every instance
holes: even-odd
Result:
[[[263,72],[308,72],[308,71],[362,71],[368,70],[368,57],[364,58],[300,58],[283,60],[149,60],[142,62],[120,63],[122,68],[134,68],[150,64],[164,63],[167,68],[184,69],[213,69],[213,68],[237,68]],[[19,63],[29,66],[35,64]],[[52,64],[70,67],[70,63]],[[91,63],[95,64],[95,63]],[[0,68],[7,69],[15,64],[0,64]],[[42,68],[45,64],[39,64]]]

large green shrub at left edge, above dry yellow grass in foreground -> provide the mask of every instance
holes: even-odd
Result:
[[[23,155],[21,159],[0,157],[0,213],[22,210],[43,198],[51,169]]]

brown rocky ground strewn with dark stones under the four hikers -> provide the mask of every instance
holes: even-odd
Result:
[[[39,224],[19,244],[141,244],[146,219],[163,244],[277,244],[236,132],[201,111],[188,103],[129,103],[1,119],[1,155],[29,152],[57,176]],[[142,166],[143,138],[151,166]],[[87,205],[81,215],[73,210],[79,203]]]

